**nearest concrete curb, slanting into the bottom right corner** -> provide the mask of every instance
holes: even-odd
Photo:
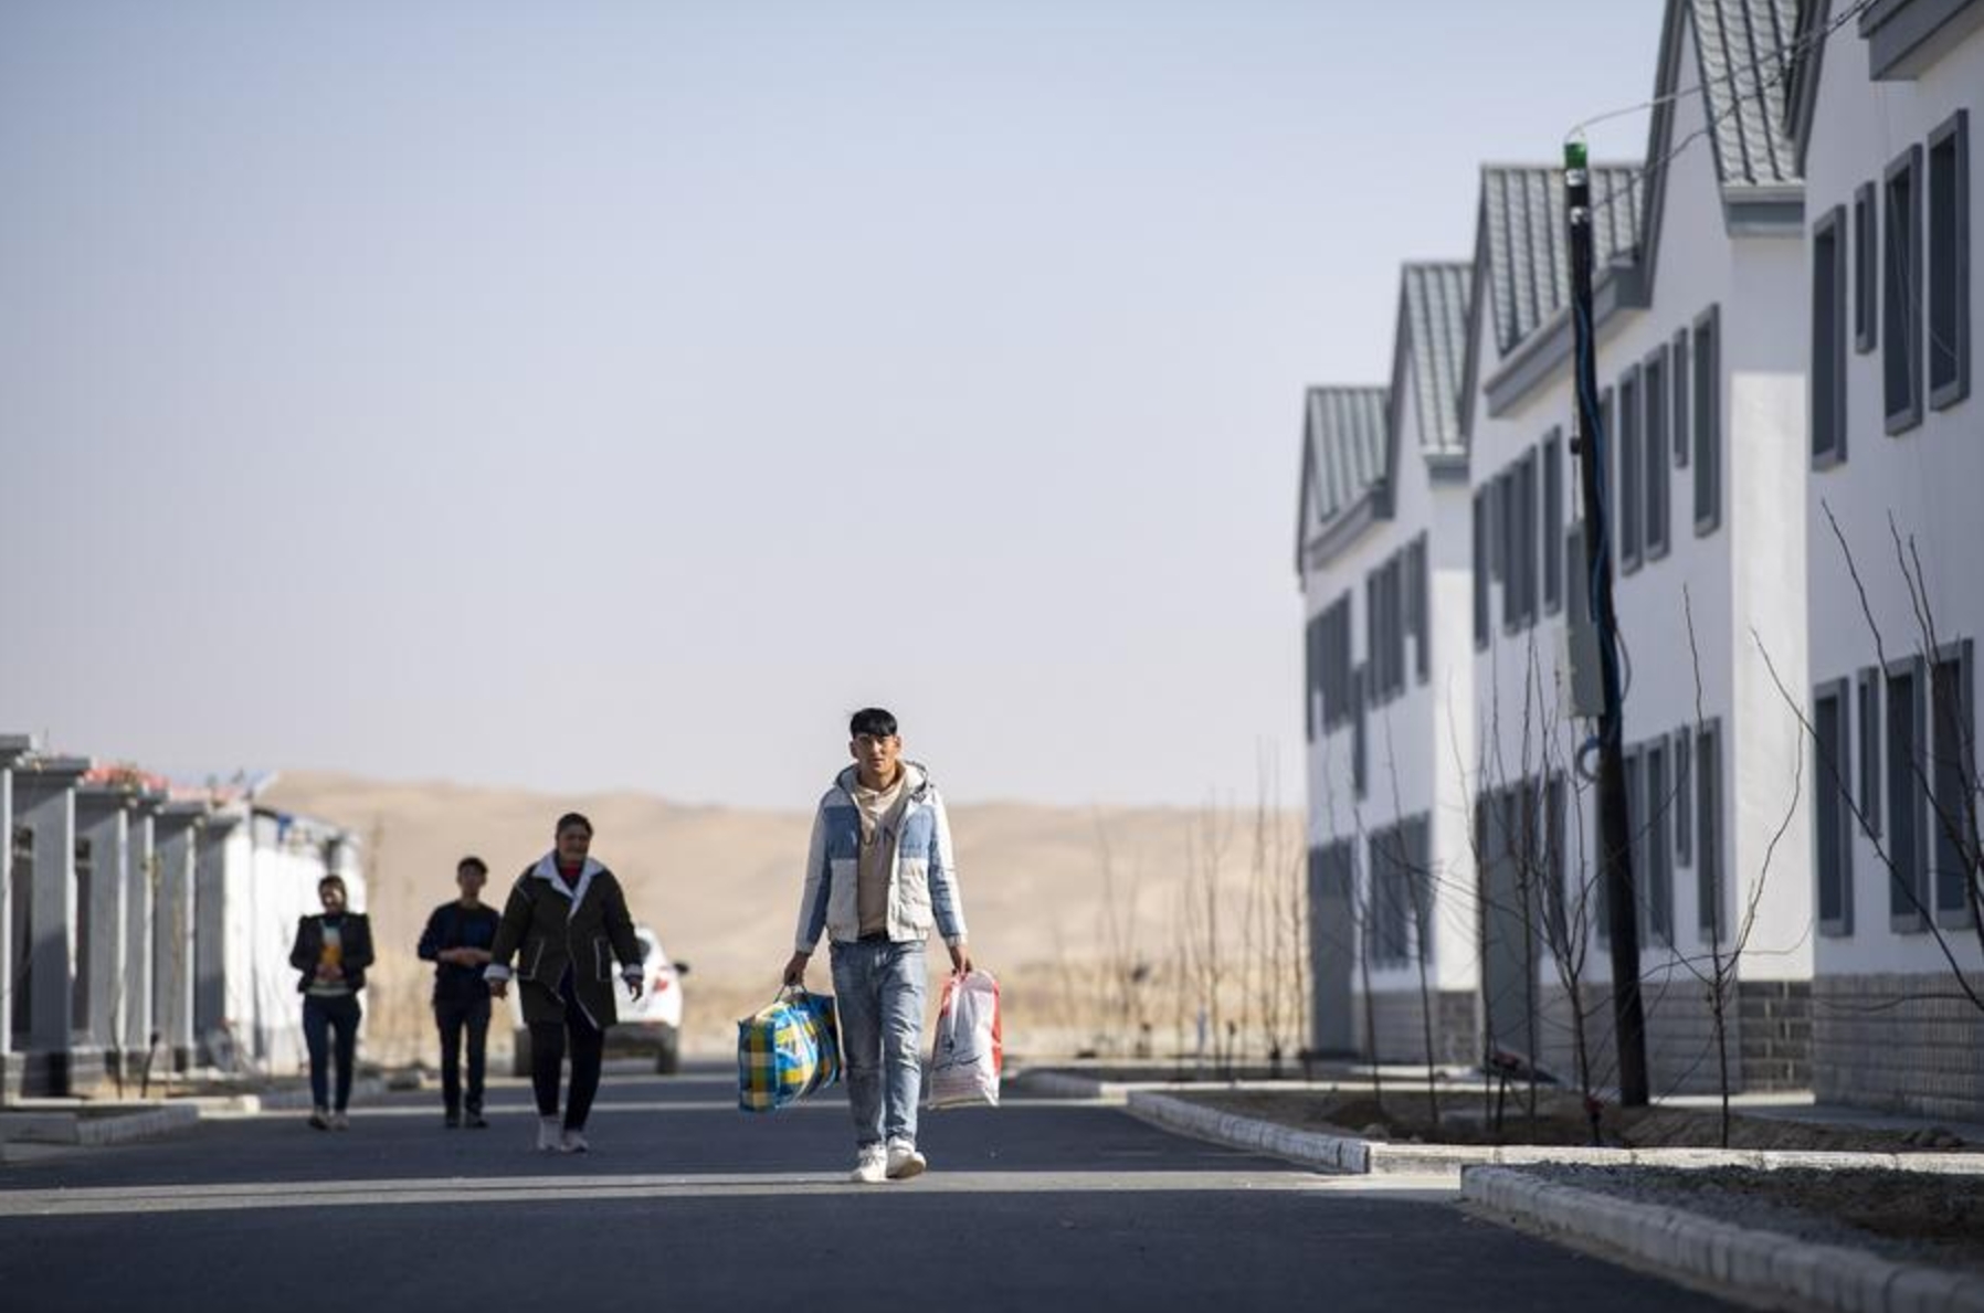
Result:
[[[1546,1234],[1583,1240],[1661,1271],[1714,1281],[1772,1303],[1798,1301],[1799,1307],[1837,1313],[1984,1313],[1984,1277],[1803,1244],[1504,1166],[1466,1168],[1460,1198]]]

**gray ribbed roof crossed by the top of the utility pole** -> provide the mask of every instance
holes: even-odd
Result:
[[[1639,169],[1595,165],[1591,212],[1599,268],[1631,256],[1641,234]],[[1482,236],[1496,345],[1508,355],[1569,301],[1563,171],[1548,165],[1482,169]]]

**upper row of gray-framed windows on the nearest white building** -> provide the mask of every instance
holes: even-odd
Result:
[[[1968,111],[1958,109],[1928,135],[1926,147],[1911,145],[1879,182],[1855,190],[1851,232],[1845,206],[1833,206],[1811,226],[1815,468],[1847,458],[1849,323],[1855,353],[1881,349],[1889,434],[1922,422],[1924,365],[1930,409],[1970,395]]]

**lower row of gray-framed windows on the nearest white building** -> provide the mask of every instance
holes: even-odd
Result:
[[[1853,934],[1855,835],[1889,871],[1889,926],[1970,924],[1978,865],[1974,662],[1968,639],[1813,692],[1819,930]],[[1857,734],[1857,740],[1855,740]],[[1851,756],[1851,748],[1859,756]]]

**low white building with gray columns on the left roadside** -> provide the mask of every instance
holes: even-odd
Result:
[[[0,736],[0,1099],[304,1061],[290,946],[317,881],[365,883],[321,821]]]

